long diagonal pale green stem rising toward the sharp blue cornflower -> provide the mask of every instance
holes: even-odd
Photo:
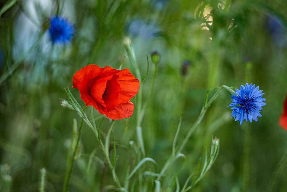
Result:
[[[199,116],[197,117],[195,123],[193,124],[193,126],[189,129],[187,135],[185,136],[183,142],[179,145],[177,151],[172,154],[168,160],[166,161],[166,163],[164,164],[162,170],[160,171],[160,174],[163,175],[165,174],[166,170],[168,169],[168,167],[170,165],[173,164],[173,162],[176,160],[176,157],[179,153],[181,153],[181,151],[183,150],[183,148],[185,147],[185,145],[187,144],[187,141],[189,140],[191,134],[194,132],[194,130],[197,128],[197,126],[201,123],[202,118],[204,117],[208,107],[210,107],[211,103],[213,103],[213,101],[216,99],[216,97],[219,95],[219,93],[222,91],[222,89],[224,88],[224,86],[221,86],[218,88],[218,90],[216,91],[216,93],[214,93],[214,95],[210,98],[209,101],[205,100],[203,107],[201,109],[201,112],[199,114]],[[206,98],[208,98],[208,95],[206,95]],[[156,180],[160,180],[161,176],[158,176]]]

